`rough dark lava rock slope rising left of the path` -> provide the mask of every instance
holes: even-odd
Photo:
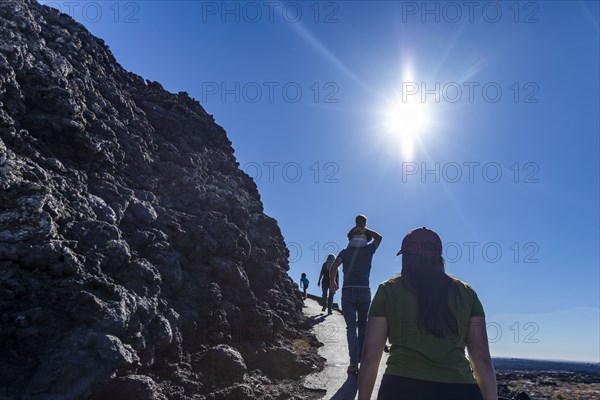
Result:
[[[312,398],[287,258],[197,101],[0,1],[1,399]]]

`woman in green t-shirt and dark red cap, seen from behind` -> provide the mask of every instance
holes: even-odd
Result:
[[[386,339],[378,400],[497,400],[483,307],[469,285],[446,274],[440,237],[414,229],[400,254],[401,274],[379,286],[369,310],[359,400],[371,398]]]

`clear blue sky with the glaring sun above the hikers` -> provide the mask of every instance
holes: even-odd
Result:
[[[43,3],[215,116],[309,291],[357,213],[373,289],[427,226],[493,355],[600,361],[597,2]]]

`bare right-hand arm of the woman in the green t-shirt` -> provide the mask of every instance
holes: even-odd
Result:
[[[498,400],[496,372],[490,356],[485,317],[471,317],[469,320],[467,351],[483,399]]]

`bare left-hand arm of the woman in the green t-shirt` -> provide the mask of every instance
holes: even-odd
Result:
[[[387,318],[369,317],[358,374],[358,400],[370,400],[387,340]]]

